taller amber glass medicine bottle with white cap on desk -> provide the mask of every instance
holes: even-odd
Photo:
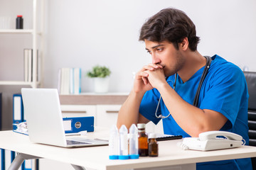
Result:
[[[139,157],[146,157],[149,155],[148,135],[146,134],[146,124],[138,123],[139,132]]]

